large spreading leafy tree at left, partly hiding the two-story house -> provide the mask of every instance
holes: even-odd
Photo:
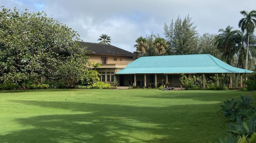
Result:
[[[0,7],[0,83],[80,78],[87,70],[87,50],[79,35],[44,12]]]

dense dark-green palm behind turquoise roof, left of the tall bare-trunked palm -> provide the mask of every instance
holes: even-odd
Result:
[[[234,60],[234,55],[239,51],[238,43],[239,30],[233,30],[233,27],[227,26],[226,29],[220,29],[221,32],[216,37],[215,45],[222,53],[222,58],[227,64],[231,65]]]

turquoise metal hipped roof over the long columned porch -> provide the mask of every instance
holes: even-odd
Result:
[[[116,74],[142,73],[251,73],[232,67],[209,54],[143,56]]]

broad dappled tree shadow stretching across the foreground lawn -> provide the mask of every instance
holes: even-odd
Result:
[[[216,117],[222,115],[219,111],[212,110],[216,108],[215,104],[141,107],[25,100],[12,100],[12,102],[71,110],[74,114],[41,115],[16,119],[18,124],[25,127],[32,126],[32,129],[0,135],[1,142],[200,143],[206,140],[217,141],[218,137],[224,134],[223,125],[219,125],[220,128],[216,129],[216,123],[219,121]],[[75,112],[85,113],[75,114]],[[205,133],[210,133],[211,137]]]

